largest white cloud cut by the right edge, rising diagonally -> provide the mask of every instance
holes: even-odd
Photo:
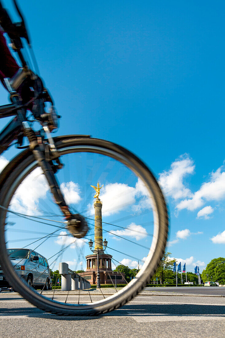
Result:
[[[185,199],[178,203],[177,210],[187,209],[196,210],[205,204],[206,201],[219,201],[225,197],[225,172],[222,167],[216,172],[210,174],[209,182],[201,185],[201,188],[196,191],[192,198]]]

